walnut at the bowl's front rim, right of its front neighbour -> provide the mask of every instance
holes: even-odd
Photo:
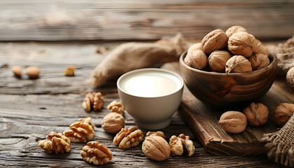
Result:
[[[241,73],[252,71],[251,62],[241,55],[235,55],[225,63],[225,73]]]

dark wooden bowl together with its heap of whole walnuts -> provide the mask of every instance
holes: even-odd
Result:
[[[265,94],[274,83],[276,57],[241,26],[216,29],[180,57],[183,80],[202,102],[226,106]]]

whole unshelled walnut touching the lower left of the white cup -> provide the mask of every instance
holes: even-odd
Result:
[[[125,118],[119,113],[109,113],[102,120],[102,128],[111,134],[118,133],[125,127]]]

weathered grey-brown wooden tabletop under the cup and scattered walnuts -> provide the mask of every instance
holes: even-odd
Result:
[[[113,134],[107,134],[101,127],[102,118],[109,113],[107,104],[119,100],[116,80],[102,87],[87,87],[85,83],[90,72],[106,56],[107,48],[117,43],[0,43],[0,167],[97,167],[84,162],[80,150],[84,143],[72,143],[71,152],[64,155],[48,154],[38,147],[38,141],[45,139],[51,131],[63,132],[78,118],[92,117],[96,127],[94,140],[106,145],[113,152],[113,160],[102,167],[282,167],[266,155],[228,156],[207,153],[196,139],[179,113],[175,113],[172,124],[162,131],[167,139],[173,134],[186,134],[195,145],[192,157],[186,155],[173,157],[164,162],[155,162],[146,158],[141,144],[129,150],[114,146]],[[98,52],[97,53],[97,49]],[[107,53],[107,52],[105,52]],[[23,68],[36,65],[41,70],[37,80],[13,77],[10,67],[20,65]],[[62,71],[68,65],[75,65],[75,77],[63,76]],[[288,95],[288,90],[274,85],[281,92],[273,102]],[[80,104],[87,91],[102,92],[105,97],[104,109],[87,113]],[[288,99],[293,99],[289,97]],[[187,100],[184,99],[184,102]],[[201,104],[200,104],[201,105]],[[127,127],[134,125],[131,116],[125,113]],[[144,133],[147,130],[143,130]]]

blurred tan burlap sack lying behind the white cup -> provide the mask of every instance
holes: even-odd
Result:
[[[120,76],[127,71],[150,67],[153,64],[179,61],[179,56],[191,43],[182,34],[162,39],[156,43],[124,43],[114,49],[99,64],[90,77],[90,85],[97,87],[106,80]]]

